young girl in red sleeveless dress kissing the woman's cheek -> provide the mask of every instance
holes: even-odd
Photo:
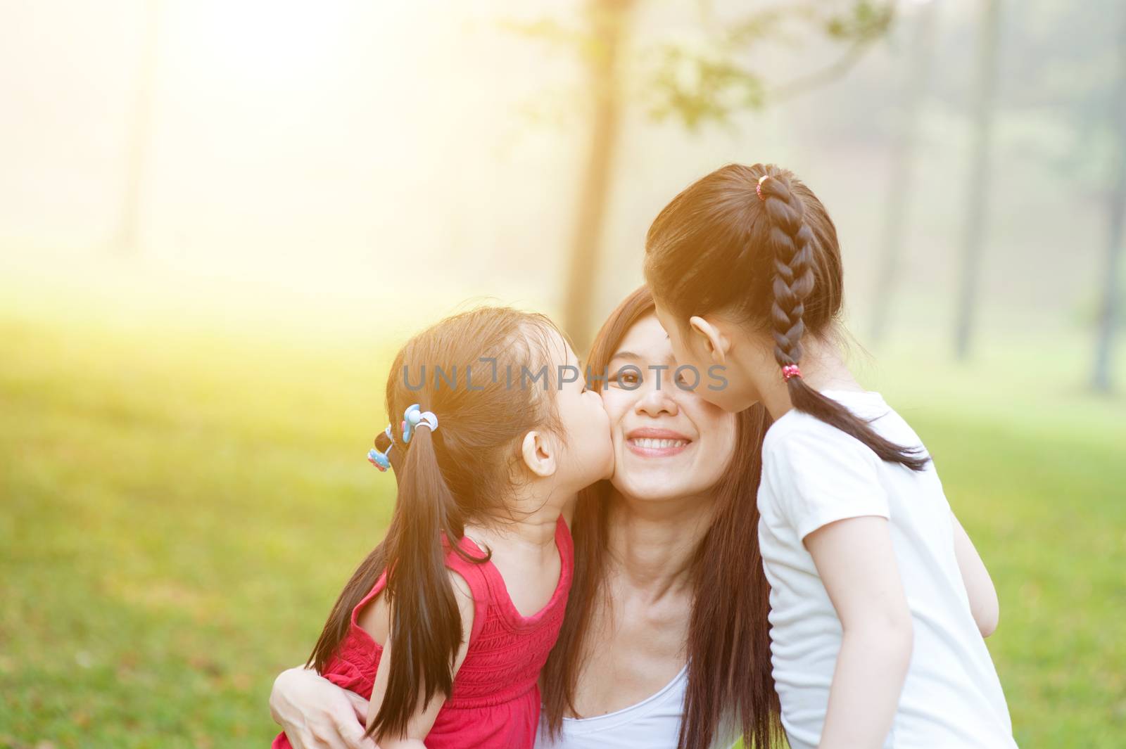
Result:
[[[601,400],[551,321],[486,307],[406,343],[386,408],[403,416],[368,459],[394,471],[394,514],[310,665],[370,698],[381,749],[530,749],[571,584],[562,512],[613,470]]]

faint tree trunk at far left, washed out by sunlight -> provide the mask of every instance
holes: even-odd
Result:
[[[136,99],[133,102],[133,124],[127,146],[128,162],[125,165],[125,189],[122,195],[122,211],[114,241],[117,253],[128,258],[137,254],[141,183],[144,179],[152,136],[152,89],[157,66],[160,0],[145,0],[144,12],[144,38],[141,40]]]

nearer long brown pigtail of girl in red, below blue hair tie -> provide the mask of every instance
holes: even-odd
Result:
[[[462,615],[446,571],[443,536],[462,535],[457,504],[436,454],[439,436],[423,425],[409,444],[395,442],[399,498],[387,530],[391,658],[383,704],[368,736],[403,736],[411,715],[453,692]]]

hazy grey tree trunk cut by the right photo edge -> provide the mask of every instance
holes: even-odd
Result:
[[[1118,281],[1121,276],[1123,224],[1126,219],[1126,13],[1119,36],[1118,83],[1111,107],[1114,125],[1118,132],[1118,157],[1115,164],[1115,184],[1108,206],[1109,232],[1107,236],[1107,264],[1102,271],[1102,305],[1099,313],[1098,343],[1094,352],[1094,388],[1110,392],[1110,359],[1114,352],[1115,325],[1118,322]]]

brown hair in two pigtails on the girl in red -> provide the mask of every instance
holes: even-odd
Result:
[[[306,664],[323,671],[348,632],[352,610],[386,570],[390,678],[369,734],[402,736],[420,703],[450,695],[462,617],[443,539],[471,559],[457,541],[466,521],[504,514],[520,439],[534,428],[561,432],[551,388],[522,387],[518,379],[525,368],[534,372],[548,364],[553,333],[543,315],[483,307],[427,328],[395,357],[386,391],[394,445],[388,451],[385,434],[376,439],[395,473],[394,514],[386,538],[337,598]],[[437,415],[438,430],[417,428],[404,443],[400,421],[415,403]]]

